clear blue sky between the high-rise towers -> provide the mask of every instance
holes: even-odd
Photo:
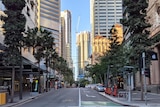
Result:
[[[76,67],[78,62],[76,48],[76,30],[77,32],[90,31],[90,0],[61,0],[61,11],[64,10],[69,10],[71,12],[72,59],[73,65],[74,67]],[[78,19],[80,19],[79,24]]]

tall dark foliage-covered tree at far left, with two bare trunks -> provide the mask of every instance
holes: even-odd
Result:
[[[12,66],[12,92],[11,92],[11,102],[13,102],[14,97],[14,75],[15,66],[20,65],[20,74],[22,75],[22,56],[21,47],[23,34],[25,31],[25,16],[22,14],[22,9],[25,7],[24,0],[2,0],[5,5],[6,10],[4,13],[7,17],[2,16],[1,19],[5,22],[2,26],[4,29],[4,44],[7,49],[5,50],[5,57],[3,58],[5,65]],[[20,78],[22,77],[20,75]],[[22,86],[22,78],[20,79],[20,86]],[[22,99],[22,87],[20,87],[20,99]]]

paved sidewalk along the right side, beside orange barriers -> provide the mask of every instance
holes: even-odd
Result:
[[[127,98],[114,97],[112,95],[105,94],[104,92],[100,94],[122,105],[129,105],[132,107],[160,107],[160,94],[147,93],[147,105],[145,104],[145,101],[141,101],[141,92],[139,91],[132,92],[132,99],[130,102]]]

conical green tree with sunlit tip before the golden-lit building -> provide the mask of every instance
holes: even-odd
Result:
[[[101,65],[104,68],[107,77],[106,82],[108,83],[109,75],[113,78],[117,77],[120,72],[120,68],[123,66],[123,48],[119,42],[118,31],[115,26],[110,30],[110,40],[109,50],[106,52],[105,56],[101,58]],[[111,67],[113,66],[113,67]],[[108,84],[106,85],[108,86]]]

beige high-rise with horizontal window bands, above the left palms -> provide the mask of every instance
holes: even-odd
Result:
[[[40,0],[40,26],[52,32],[60,55],[60,0]]]

